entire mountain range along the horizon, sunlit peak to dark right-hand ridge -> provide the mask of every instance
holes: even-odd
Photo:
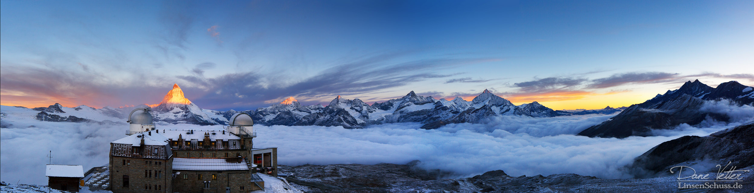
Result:
[[[484,90],[471,101],[456,97],[453,100],[434,99],[432,96],[418,96],[414,91],[406,96],[369,105],[362,100],[347,100],[336,96],[327,106],[321,104],[302,106],[298,100],[289,97],[281,103],[256,110],[241,111],[252,116],[256,124],[262,125],[317,125],[363,128],[371,124],[397,122],[420,122],[421,128],[434,129],[445,124],[483,123],[493,116],[518,115],[529,117],[555,117],[567,115],[613,114],[614,118],[587,128],[579,135],[599,137],[650,136],[651,130],[672,129],[679,124],[699,124],[704,120],[728,121],[727,115],[701,111],[704,103],[714,100],[729,100],[738,106],[754,103],[752,87],[729,81],[710,87],[700,81],[688,81],[677,90],[668,90],[654,98],[629,107],[605,109],[553,110],[537,102],[520,106]],[[173,85],[161,103],[95,109],[88,106],[75,108],[54,104],[48,107],[28,109],[20,106],[3,106],[2,127],[12,124],[12,118],[34,118],[39,121],[100,122],[122,124],[131,109],[152,107],[152,114],[158,124],[227,124],[231,115],[239,111],[215,111],[201,109],[186,99],[178,84]]]

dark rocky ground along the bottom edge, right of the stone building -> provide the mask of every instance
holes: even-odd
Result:
[[[293,173],[286,179],[305,192],[754,192],[754,171],[744,174],[742,189],[679,189],[677,176],[599,179],[572,173],[508,176],[494,170],[474,177],[443,178],[444,173],[418,169],[415,162],[280,166],[280,173]]]

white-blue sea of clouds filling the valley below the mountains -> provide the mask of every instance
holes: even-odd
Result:
[[[633,177],[621,170],[661,142],[685,135],[706,136],[754,120],[752,106],[710,103],[710,112],[731,116],[730,123],[708,121],[703,127],[682,124],[658,136],[625,139],[575,136],[613,115],[555,118],[501,116],[487,124],[449,124],[437,130],[418,123],[379,124],[365,129],[320,126],[254,126],[254,146],[277,147],[278,163],[406,164],[473,176],[504,170],[510,176],[576,173],[600,178]],[[30,127],[34,125],[33,127]],[[219,130],[221,126],[158,125],[158,129]],[[47,184],[44,164],[81,164],[85,170],[108,164],[109,142],[124,137],[127,125],[19,121],[2,128],[0,180]],[[19,181],[20,180],[20,181]]]

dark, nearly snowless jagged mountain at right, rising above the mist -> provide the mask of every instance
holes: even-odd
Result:
[[[651,130],[672,129],[679,124],[699,124],[705,119],[728,121],[726,115],[704,112],[700,108],[713,100],[730,100],[738,105],[752,105],[752,87],[729,81],[713,88],[699,80],[688,81],[678,90],[657,94],[644,103],[629,106],[611,120],[589,127],[582,136],[618,137],[650,136]]]

